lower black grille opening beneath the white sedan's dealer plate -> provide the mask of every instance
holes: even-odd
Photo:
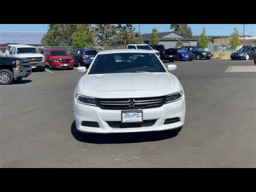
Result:
[[[140,123],[122,123],[121,121],[107,121],[112,128],[135,128],[135,127],[150,127],[156,123],[156,119],[144,120]]]

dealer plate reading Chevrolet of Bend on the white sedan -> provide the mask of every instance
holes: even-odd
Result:
[[[133,122],[142,122],[143,121],[143,111],[121,111],[121,120],[122,123],[133,123]]]

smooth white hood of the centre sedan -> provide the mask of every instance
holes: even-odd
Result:
[[[178,79],[168,73],[85,75],[78,83],[82,94],[96,98],[163,96],[180,91]]]

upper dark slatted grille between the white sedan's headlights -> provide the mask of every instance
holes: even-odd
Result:
[[[100,108],[111,110],[147,109],[160,107],[165,97],[125,98],[125,99],[98,99]]]

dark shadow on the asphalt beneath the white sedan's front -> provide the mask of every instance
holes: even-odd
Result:
[[[118,143],[139,143],[149,141],[159,141],[173,138],[178,135],[177,132],[159,131],[159,132],[141,132],[141,133],[120,133],[120,134],[84,134],[78,135],[76,132],[76,123],[71,125],[71,133],[74,138],[80,142],[93,144],[118,144]]]

